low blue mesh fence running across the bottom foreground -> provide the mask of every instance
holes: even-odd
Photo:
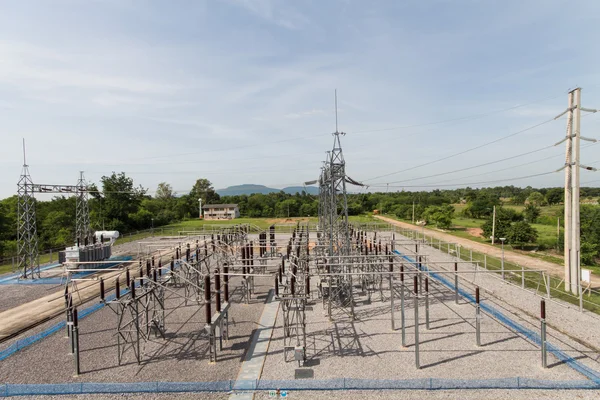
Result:
[[[0,384],[0,397],[106,393],[190,393],[271,390],[474,390],[474,389],[600,389],[600,382],[552,381],[532,378],[498,379],[353,379],[247,380],[213,382],[127,382]]]

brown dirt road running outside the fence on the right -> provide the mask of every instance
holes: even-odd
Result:
[[[378,218],[382,221],[389,222],[392,225],[399,226],[401,228],[421,230],[421,228],[415,227],[412,224],[397,221],[395,219],[391,219],[391,218],[384,217],[381,215],[375,215],[374,217]],[[475,250],[480,253],[490,255],[492,257],[497,257],[497,258],[502,257],[502,249],[500,247],[495,247],[495,246],[488,245],[488,244],[474,242],[469,239],[456,237],[456,236],[450,235],[448,233],[444,233],[444,232],[440,232],[440,231],[428,229],[428,228],[425,228],[425,234],[433,236],[436,239],[441,239],[443,241],[460,244],[464,248]],[[548,261],[528,257],[528,256],[525,256],[525,255],[522,255],[519,253],[515,253],[513,251],[506,250],[506,249],[504,250],[504,259],[509,262],[519,264],[519,265],[522,265],[522,266],[530,268],[530,269],[543,269],[544,271],[547,271],[551,275],[554,275],[559,278],[564,277],[564,267],[562,265],[558,265],[558,264],[554,264],[554,263],[551,263]],[[600,286],[600,280],[598,279],[598,277],[594,277],[594,276],[592,277],[592,286],[594,286],[594,287]]]

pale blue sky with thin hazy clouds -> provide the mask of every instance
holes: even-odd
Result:
[[[598,15],[591,0],[0,0],[0,198],[23,139],[35,183],[302,185],[333,146],[336,89],[346,172],[369,185],[352,191],[562,186],[553,118],[576,87],[600,108]],[[600,139],[600,113],[581,134]],[[600,145],[581,162],[600,167]]]

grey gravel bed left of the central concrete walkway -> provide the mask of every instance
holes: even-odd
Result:
[[[237,280],[239,281],[239,279]],[[231,281],[236,285],[236,280]],[[208,339],[203,334],[203,306],[185,305],[183,299],[168,295],[165,301],[167,339],[148,342],[140,366],[133,352],[117,362],[116,315],[108,308],[83,320],[81,370],[73,377],[73,357],[68,341],[59,332],[0,363],[0,381],[7,383],[51,382],[134,382],[134,381],[216,381],[235,379],[251,334],[264,307],[264,289],[258,286],[258,299],[230,308],[230,341],[219,352],[216,364],[208,363]],[[240,302],[240,292],[231,293],[232,303]],[[31,368],[36,365],[36,368]],[[60,365],[60,368],[56,368]]]

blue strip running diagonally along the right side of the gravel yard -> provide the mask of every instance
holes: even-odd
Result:
[[[404,258],[405,260],[407,260],[411,263],[416,263],[416,260],[414,260],[408,256],[405,256],[404,254],[400,253],[398,250],[394,250],[394,253],[398,254],[400,257]],[[416,265],[416,264],[414,264],[414,265]],[[429,271],[429,267],[427,267],[424,263],[421,263],[421,270]],[[439,281],[440,283],[442,283],[444,286],[446,286],[452,290],[455,290],[454,283],[451,283],[448,279],[444,278],[440,274],[432,272],[432,273],[430,273],[430,276],[433,277],[434,279],[436,279],[437,281]],[[469,302],[475,304],[475,297],[473,295],[471,295],[470,293],[467,293],[466,291],[464,291],[461,288],[458,288],[458,293],[465,299],[469,300]],[[484,304],[482,302],[480,302],[479,304],[480,304],[481,309],[484,312],[492,315],[498,321],[502,322],[503,324],[510,327],[511,329],[519,332],[520,334],[524,335],[525,337],[527,337],[529,340],[531,340],[536,345],[541,346],[542,339],[541,339],[540,335],[538,335],[536,332],[532,331],[531,329],[525,328],[523,325],[513,321],[506,315],[502,314],[500,311],[496,310],[495,308],[493,308],[487,304]],[[600,384],[600,372],[595,371],[595,370],[587,367],[586,365],[583,365],[579,361],[575,360],[573,357],[567,355],[565,352],[560,350],[555,345],[550,344],[548,342],[546,342],[546,344],[547,344],[548,351],[550,353],[554,354],[554,356],[556,356],[556,358],[558,358],[562,362],[566,363],[567,365],[569,365],[569,367],[573,368],[575,371],[584,375],[588,379]]]

